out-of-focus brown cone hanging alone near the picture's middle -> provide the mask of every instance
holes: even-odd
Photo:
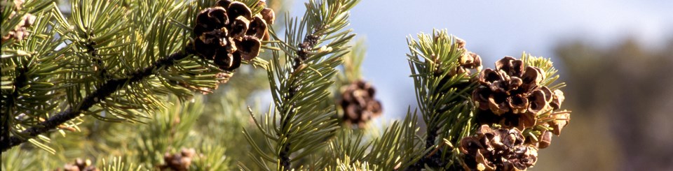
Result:
[[[364,126],[367,121],[379,117],[383,108],[374,99],[376,90],[363,80],[353,82],[341,93],[339,104],[344,109],[344,121],[348,124]]]

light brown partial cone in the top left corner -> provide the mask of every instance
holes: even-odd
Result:
[[[12,13],[9,15],[9,19],[15,17],[15,15],[18,13],[19,10],[21,10],[22,5],[23,5],[23,0],[14,0],[14,10]],[[4,1],[2,4],[6,4],[7,2]],[[0,7],[4,9],[3,7]],[[7,35],[2,36],[2,43],[5,43],[7,40],[10,39],[15,39],[15,40],[23,40],[24,38],[27,38],[29,36],[28,32],[28,27],[31,27],[32,24],[35,23],[35,15],[32,15],[30,13],[27,13],[26,15],[22,16],[23,22],[19,22],[19,24],[14,27]],[[3,21],[4,22],[4,21]]]

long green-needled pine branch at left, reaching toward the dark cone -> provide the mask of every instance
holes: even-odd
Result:
[[[219,77],[222,70],[207,60],[172,60],[166,65],[159,59],[188,46],[191,30],[180,26],[193,21],[197,11],[184,9],[196,6],[195,1],[134,1],[127,5],[114,0],[72,1],[69,20],[58,8],[35,13],[38,20],[26,40],[3,44],[2,101],[13,101],[14,105],[2,107],[4,136],[0,142],[10,142],[9,132],[15,136],[12,145],[28,141],[54,153],[42,144],[50,138],[40,135],[54,124],[65,121],[56,125],[59,131],[77,129],[75,120],[81,114],[102,121],[137,122],[140,117],[148,118],[146,112],[165,107],[161,95],[175,94],[184,101],[193,90],[215,89],[228,79]],[[186,57],[185,50],[176,54]],[[10,52],[13,55],[5,55]],[[138,69],[152,67],[163,68]],[[135,77],[148,71],[156,76]],[[28,73],[25,86],[14,84],[21,72]],[[118,87],[129,83],[134,86]],[[12,96],[16,91],[20,96]],[[86,110],[79,112],[79,108]],[[35,136],[40,138],[32,139]]]

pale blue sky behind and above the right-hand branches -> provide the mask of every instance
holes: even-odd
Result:
[[[294,1],[292,15],[305,1]],[[374,83],[387,117],[400,118],[414,105],[408,77],[408,36],[448,29],[467,41],[484,59],[484,68],[505,55],[526,51],[553,57],[559,41],[581,38],[609,45],[627,37],[657,47],[673,36],[673,1],[373,1],[362,0],[351,11],[351,28],[365,38],[362,66]],[[559,64],[562,65],[562,64]]]

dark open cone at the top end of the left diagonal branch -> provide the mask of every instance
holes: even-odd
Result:
[[[264,14],[252,16],[244,3],[229,0],[217,1],[215,7],[201,10],[196,15],[193,33],[196,53],[229,71],[238,68],[241,60],[257,57],[260,40],[268,40]]]

